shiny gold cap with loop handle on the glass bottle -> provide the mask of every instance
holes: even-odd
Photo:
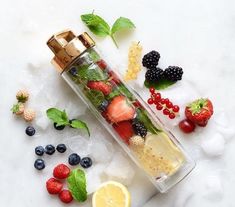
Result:
[[[95,42],[86,32],[76,36],[71,30],[65,30],[54,34],[47,45],[55,54],[52,64],[62,73],[75,58],[87,48],[93,47]]]

